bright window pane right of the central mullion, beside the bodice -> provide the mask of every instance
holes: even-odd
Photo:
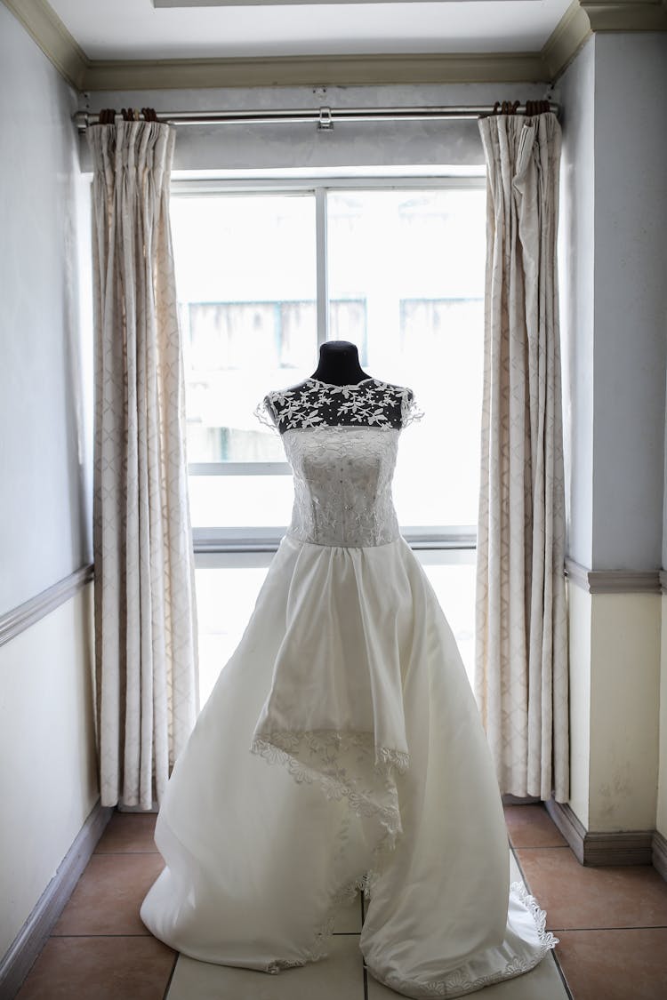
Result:
[[[401,442],[405,526],[474,525],[479,488],[485,192],[328,195],[329,293],[359,304],[345,336],[377,378],[414,389],[425,418]],[[330,336],[341,337],[330,306]]]

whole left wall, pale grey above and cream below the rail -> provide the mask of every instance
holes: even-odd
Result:
[[[75,106],[0,4],[0,614],[91,558]],[[91,589],[0,647],[0,959],[98,798]]]

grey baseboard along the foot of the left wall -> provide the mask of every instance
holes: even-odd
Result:
[[[113,809],[98,800],[34,910],[0,961],[0,1000],[13,1000],[88,864]]]

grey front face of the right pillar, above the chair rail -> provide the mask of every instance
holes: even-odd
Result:
[[[591,565],[657,569],[667,347],[667,35],[598,36],[595,89]]]

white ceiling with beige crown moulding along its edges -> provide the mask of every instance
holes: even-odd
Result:
[[[77,90],[549,83],[667,0],[0,0]]]

